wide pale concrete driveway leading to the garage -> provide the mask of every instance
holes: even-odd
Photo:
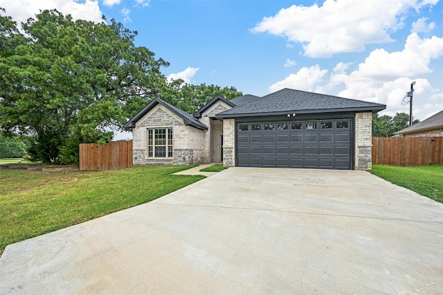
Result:
[[[443,294],[443,204],[363,171],[230,168],[8,246],[10,293]]]

